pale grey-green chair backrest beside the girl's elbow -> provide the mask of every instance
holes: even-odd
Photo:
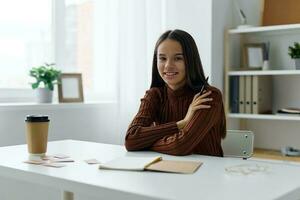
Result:
[[[250,158],[253,154],[254,134],[246,130],[227,130],[222,148],[224,156]]]

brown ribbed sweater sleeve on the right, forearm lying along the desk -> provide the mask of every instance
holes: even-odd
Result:
[[[151,149],[171,155],[188,155],[193,153],[193,149],[202,142],[207,134],[221,135],[221,133],[213,130],[214,126],[224,121],[221,92],[217,89],[213,89],[211,97],[213,101],[206,103],[210,104],[211,108],[196,111],[192,119],[182,130],[156,141]]]

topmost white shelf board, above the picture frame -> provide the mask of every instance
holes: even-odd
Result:
[[[243,29],[230,29],[229,34],[241,34],[241,33],[259,33],[259,32],[270,32],[270,31],[289,31],[297,30],[300,31],[300,24],[287,24],[287,25],[276,25],[276,26],[254,26]]]

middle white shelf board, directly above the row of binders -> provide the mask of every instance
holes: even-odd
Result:
[[[300,75],[300,70],[247,70],[247,71],[229,71],[229,76],[246,75]]]

